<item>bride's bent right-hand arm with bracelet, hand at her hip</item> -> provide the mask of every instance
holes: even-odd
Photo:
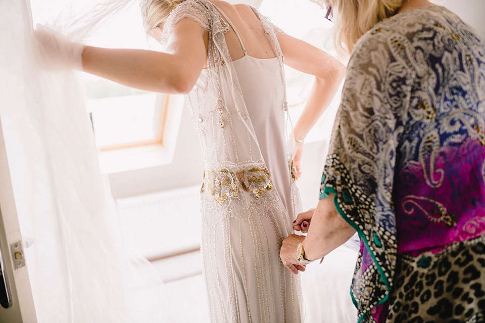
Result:
[[[298,38],[283,33],[278,35],[278,41],[286,65],[303,73],[315,75],[310,96],[294,129],[297,140],[294,166],[297,167],[296,175],[299,177],[303,145],[298,141],[305,139],[332,101],[344,78],[345,66],[331,55]]]

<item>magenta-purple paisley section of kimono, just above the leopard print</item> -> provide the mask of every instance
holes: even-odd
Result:
[[[434,161],[427,157],[397,171],[398,253],[440,251],[485,233],[484,160],[485,147],[468,138],[440,148]]]

